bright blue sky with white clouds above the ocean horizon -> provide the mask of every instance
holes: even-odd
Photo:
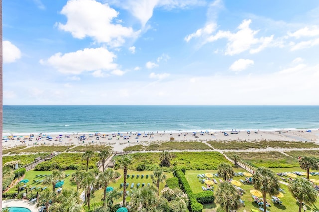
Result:
[[[318,0],[3,0],[4,105],[319,105]]]

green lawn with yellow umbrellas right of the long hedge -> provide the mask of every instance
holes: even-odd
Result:
[[[280,168],[280,169],[272,169],[275,173],[276,172],[291,172],[291,171],[302,171],[300,168]],[[235,169],[235,172],[244,172],[243,169]],[[201,192],[202,188],[201,186],[204,186],[205,184],[201,184],[197,178],[197,174],[204,174],[204,173],[217,173],[216,170],[187,170],[186,171],[186,178],[189,182],[189,185],[191,186],[192,190],[194,193]],[[315,179],[319,179],[319,176],[312,177]],[[218,181],[219,184],[219,179],[221,178],[216,178],[215,179]],[[239,181],[240,179],[245,179],[245,177],[234,177],[234,180]],[[214,185],[214,189],[216,190],[218,188],[218,184]],[[250,209],[256,209],[258,210],[259,207],[256,203],[254,203],[252,199],[252,195],[250,194],[250,190],[253,189],[252,185],[244,185],[242,184],[240,186],[242,189],[245,190],[245,194],[241,197],[243,201],[245,201],[245,206],[241,207],[237,212],[243,212],[244,209],[246,209],[247,212],[250,212]],[[273,204],[271,203],[271,207],[268,208],[270,212],[295,212],[298,211],[298,205],[296,204],[296,199],[290,194],[288,191],[288,186],[281,184],[281,188],[284,189],[285,194],[283,198],[280,198],[283,201],[283,205],[280,206],[278,204]],[[269,195],[267,195],[267,199],[270,201],[271,198]],[[203,212],[213,212],[219,207],[218,204],[207,204],[204,206]],[[308,210],[319,210],[319,197],[318,200],[315,204],[315,206],[308,206]]]

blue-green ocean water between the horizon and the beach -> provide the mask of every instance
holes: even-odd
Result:
[[[3,106],[3,134],[318,129],[319,106]]]

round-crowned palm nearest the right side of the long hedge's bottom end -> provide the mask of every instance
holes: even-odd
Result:
[[[216,202],[219,203],[221,207],[225,208],[226,212],[229,212],[229,208],[235,210],[238,209],[240,206],[239,199],[240,196],[235,187],[227,181],[220,183],[215,192]]]

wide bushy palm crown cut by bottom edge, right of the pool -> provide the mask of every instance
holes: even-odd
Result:
[[[56,196],[50,209],[54,212],[80,212],[81,202],[77,191],[65,189]]]

